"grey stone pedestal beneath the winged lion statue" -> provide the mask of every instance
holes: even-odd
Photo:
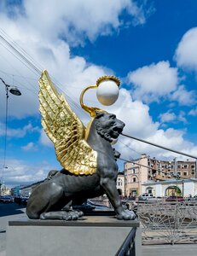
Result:
[[[114,256],[130,230],[137,227],[136,255],[141,255],[138,221],[89,216],[77,221],[9,221],[7,256]]]

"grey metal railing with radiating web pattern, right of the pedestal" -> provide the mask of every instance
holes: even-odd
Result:
[[[137,205],[143,244],[197,241],[197,202],[148,202]]]

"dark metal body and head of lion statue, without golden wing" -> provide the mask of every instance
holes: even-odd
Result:
[[[81,212],[61,211],[67,204],[74,205],[106,194],[119,219],[134,219],[135,213],[125,210],[116,188],[118,165],[111,145],[119,137],[125,124],[112,113],[96,113],[93,119],[87,143],[97,152],[96,173],[76,176],[67,170],[53,172],[32,191],[26,214],[32,219],[75,220]]]

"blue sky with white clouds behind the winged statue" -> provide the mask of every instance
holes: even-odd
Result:
[[[119,100],[106,109],[125,121],[125,133],[197,155],[196,13],[192,0],[1,1],[0,36],[37,68],[0,38],[0,78],[22,92],[20,97],[9,94],[4,168],[5,91],[0,82],[3,183],[36,182],[61,168],[40,125],[38,78],[43,68],[84,124],[89,116],[77,106],[81,90],[104,74],[116,75]],[[103,108],[94,92],[85,102]],[[128,160],[142,153],[183,160],[125,137],[116,148]]]

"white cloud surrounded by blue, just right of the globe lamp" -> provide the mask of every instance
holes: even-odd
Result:
[[[157,64],[151,64],[130,72],[128,81],[134,86],[131,92],[136,99],[145,102],[159,102],[160,97],[176,90],[177,68],[170,67],[168,61],[159,61]]]

